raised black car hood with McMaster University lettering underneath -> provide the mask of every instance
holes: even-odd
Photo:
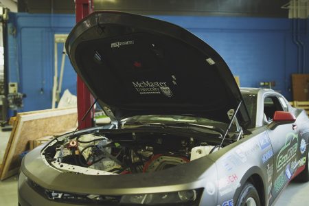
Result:
[[[242,95],[220,55],[187,30],[124,12],[94,12],[66,42],[71,63],[106,113],[187,115],[229,122]],[[246,127],[244,103],[238,113]]]

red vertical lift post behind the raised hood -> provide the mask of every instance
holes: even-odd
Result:
[[[81,21],[85,16],[93,12],[93,0],[76,0],[76,23]],[[82,117],[89,107],[93,104],[93,96],[88,88],[78,76],[77,78],[77,102],[78,102],[78,129],[89,128],[93,126],[93,112],[91,111],[82,122]]]

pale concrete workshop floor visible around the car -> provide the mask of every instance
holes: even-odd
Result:
[[[0,130],[0,163],[3,158],[10,132],[3,133]],[[282,192],[275,205],[280,206],[308,206],[309,205],[309,183],[298,183],[292,181]],[[5,181],[0,181],[0,205],[17,205],[17,176],[12,176]]]

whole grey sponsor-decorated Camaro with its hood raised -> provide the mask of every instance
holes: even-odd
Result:
[[[95,12],[66,42],[111,124],[28,153],[19,205],[273,205],[309,180],[308,117],[271,89],[239,89],[187,30]]]

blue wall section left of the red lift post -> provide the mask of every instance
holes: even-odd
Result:
[[[9,79],[19,82],[19,91],[27,95],[22,111],[52,108],[54,34],[68,34],[74,24],[73,15],[10,14]],[[62,49],[63,44],[58,44],[58,68]],[[76,73],[67,57],[64,89],[76,94]]]

